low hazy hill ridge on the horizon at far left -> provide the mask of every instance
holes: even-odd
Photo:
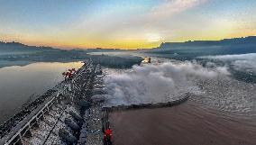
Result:
[[[29,53],[29,52],[41,52],[41,51],[58,51],[59,49],[53,49],[51,47],[37,47],[28,46],[19,42],[3,42],[0,41],[0,54],[9,53]]]

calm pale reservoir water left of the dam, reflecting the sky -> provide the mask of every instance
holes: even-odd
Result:
[[[56,86],[64,79],[62,72],[81,66],[81,62],[39,62],[23,67],[0,68],[0,122],[5,122],[19,112],[23,104]]]

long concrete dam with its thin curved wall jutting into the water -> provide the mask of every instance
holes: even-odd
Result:
[[[159,104],[105,106],[105,74],[99,64],[84,65],[0,126],[0,145],[114,144],[109,114],[183,103],[189,95]],[[65,75],[65,74],[64,74]]]

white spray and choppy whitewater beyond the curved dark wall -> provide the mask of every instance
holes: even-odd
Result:
[[[196,60],[153,59],[131,69],[106,68],[108,105],[167,102],[186,93],[190,100],[220,111],[256,111],[256,85],[233,78],[226,67],[203,67]]]

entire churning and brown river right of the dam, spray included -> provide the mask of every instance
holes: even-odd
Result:
[[[255,83],[235,79],[225,66],[151,59],[151,64],[130,70],[105,69],[110,95],[105,105],[158,103],[192,95],[174,107],[111,113],[114,144],[256,144]]]

